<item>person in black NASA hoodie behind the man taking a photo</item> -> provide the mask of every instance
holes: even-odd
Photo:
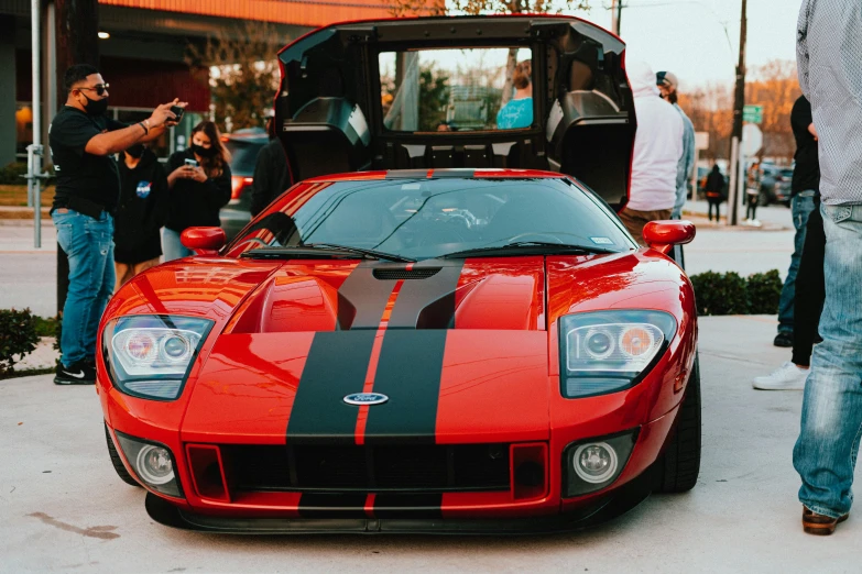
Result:
[[[120,202],[113,225],[113,266],[119,288],[139,273],[159,265],[159,231],[167,213],[167,176],[143,144],[126,150],[118,162]]]

